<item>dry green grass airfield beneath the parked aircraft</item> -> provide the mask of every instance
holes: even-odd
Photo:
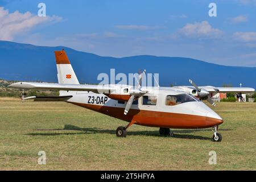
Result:
[[[173,130],[133,125],[126,138],[115,137],[127,123],[63,102],[0,99],[1,170],[255,170],[256,103],[218,103],[224,118],[222,142],[212,131]],[[217,165],[209,165],[209,151]],[[38,164],[45,151],[47,164]]]

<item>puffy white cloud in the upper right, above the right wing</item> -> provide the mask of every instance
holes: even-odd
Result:
[[[187,23],[183,28],[179,30],[180,34],[189,37],[208,37],[217,38],[222,34],[222,31],[217,28],[213,28],[207,21]]]

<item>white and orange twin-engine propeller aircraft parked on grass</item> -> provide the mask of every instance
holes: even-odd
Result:
[[[55,51],[57,78],[59,83],[17,82],[11,88],[56,89],[56,97],[27,97],[24,100],[65,101],[85,107],[111,117],[129,122],[116,130],[117,137],[126,137],[127,129],[133,125],[159,127],[162,136],[174,134],[172,129],[203,129],[213,127],[214,142],[221,142],[217,133],[223,119],[199,98],[206,98],[211,104],[211,92],[254,92],[250,88],[214,88],[177,86],[172,88],[144,87],[130,85],[81,85],[64,50]],[[140,80],[141,81],[141,80]]]

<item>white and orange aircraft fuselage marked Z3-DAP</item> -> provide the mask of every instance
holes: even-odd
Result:
[[[114,100],[106,94],[92,92],[72,92],[67,102],[109,115],[123,121],[134,121],[137,125],[151,127],[168,127],[175,129],[200,129],[218,126],[222,118],[210,107],[193,96],[174,90],[159,90],[158,94],[147,93],[131,106],[127,115],[123,114],[126,102]],[[71,94],[70,92],[67,94]],[[167,97],[191,97],[190,101],[168,105]],[[146,97],[146,101],[145,101]],[[148,98],[153,98],[148,100]],[[193,100],[194,99],[194,100]],[[154,103],[153,103],[154,102]]]

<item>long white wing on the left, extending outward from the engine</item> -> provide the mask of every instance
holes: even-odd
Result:
[[[115,90],[113,85],[53,84],[44,82],[17,82],[9,85],[9,87],[16,89],[88,91],[94,93],[110,93]]]

